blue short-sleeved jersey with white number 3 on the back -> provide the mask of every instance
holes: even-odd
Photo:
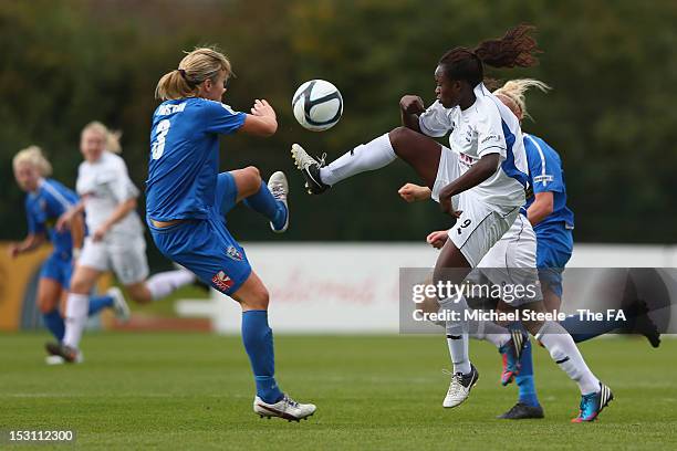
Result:
[[[146,216],[207,219],[215,206],[219,135],[237,132],[244,113],[205,98],[162,103],[153,114]]]

